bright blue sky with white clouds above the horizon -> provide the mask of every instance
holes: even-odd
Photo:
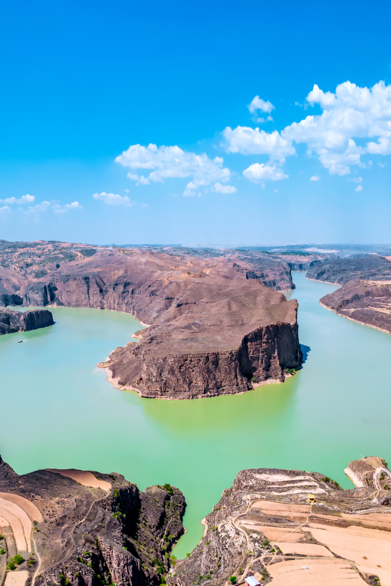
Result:
[[[2,3],[1,237],[389,243],[390,21],[383,1]]]

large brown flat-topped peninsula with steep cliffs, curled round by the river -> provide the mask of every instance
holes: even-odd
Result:
[[[23,305],[114,309],[148,325],[99,364],[114,386],[144,397],[209,397],[282,382],[301,367],[297,302],[276,291],[277,273],[294,287],[290,269],[264,256],[274,272],[247,251],[84,247],[40,278],[15,281],[3,268],[2,282]]]

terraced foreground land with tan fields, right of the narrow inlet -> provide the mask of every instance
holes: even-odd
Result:
[[[391,472],[382,458],[366,458],[346,473],[358,488],[342,490],[318,472],[239,472],[168,584],[228,586],[230,576],[244,584],[248,575],[276,586],[390,584]]]

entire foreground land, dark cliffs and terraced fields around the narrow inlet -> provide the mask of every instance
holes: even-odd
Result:
[[[115,472],[46,469],[18,476],[0,458],[0,581],[56,586],[391,583],[391,472],[351,462],[356,488],[319,472],[249,469],[203,520],[181,561],[185,499],[168,483],[141,492]],[[347,583],[347,582],[346,582]]]

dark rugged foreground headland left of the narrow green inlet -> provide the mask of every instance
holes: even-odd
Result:
[[[21,554],[25,561],[18,570],[35,575],[38,585],[157,586],[183,533],[180,490],[151,486],[143,493],[116,473],[40,470],[8,475],[0,478],[0,494],[0,515],[10,506],[14,516],[25,511],[22,534],[15,523],[4,527],[2,519],[1,564]],[[29,553],[31,533],[35,544]]]

